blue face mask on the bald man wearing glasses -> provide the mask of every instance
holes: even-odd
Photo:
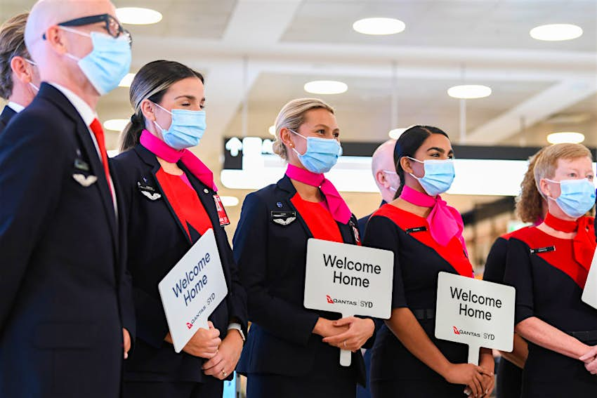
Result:
[[[67,32],[91,37],[93,50],[84,58],[77,58],[74,55],[67,56],[77,61],[77,65],[85,74],[93,87],[100,95],[105,95],[117,88],[123,77],[131,69],[131,44],[129,37],[122,34],[116,39],[109,34],[99,32],[79,32],[77,29],[61,26]]]

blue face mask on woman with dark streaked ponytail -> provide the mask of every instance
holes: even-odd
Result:
[[[157,104],[155,105],[172,115],[172,122],[167,130],[154,121],[162,131],[164,142],[169,147],[175,150],[184,150],[199,145],[206,128],[205,111],[172,110],[170,112]]]

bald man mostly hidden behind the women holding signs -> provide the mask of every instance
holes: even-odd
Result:
[[[396,166],[394,164],[394,147],[396,140],[387,140],[383,144],[379,145],[371,159],[371,171],[373,178],[379,193],[381,193],[381,205],[390,203],[394,200],[394,194],[398,190],[400,185],[400,178],[396,173]],[[365,237],[365,227],[367,221],[369,221],[371,214],[365,215],[365,217],[359,218],[359,233],[362,237]],[[375,329],[381,327],[381,320],[376,319]],[[371,353],[372,350],[365,351],[363,359],[365,359],[365,369],[367,369],[367,387],[357,386],[357,398],[371,398],[371,392],[369,391],[369,371],[371,370]]]

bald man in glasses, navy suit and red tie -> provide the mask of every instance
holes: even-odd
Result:
[[[118,397],[134,327],[117,181],[97,119],[129,71],[107,0],[41,0],[39,93],[0,135],[0,397]]]

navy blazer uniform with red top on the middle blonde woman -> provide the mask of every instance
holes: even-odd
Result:
[[[301,199],[287,176],[244,200],[234,254],[252,322],[237,367],[247,398],[350,398],[365,383],[360,350],[340,366],[339,349],[312,333],[319,317],[341,317],[303,307],[312,237],[356,244],[357,220],[336,222],[322,204]]]

